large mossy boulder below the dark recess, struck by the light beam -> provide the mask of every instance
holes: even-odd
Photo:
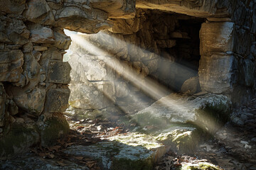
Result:
[[[222,120],[227,120],[230,109],[231,102],[227,96],[206,94],[189,97],[170,94],[139,111],[133,118],[141,125],[194,123],[211,132],[218,128]]]

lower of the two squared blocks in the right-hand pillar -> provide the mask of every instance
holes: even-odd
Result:
[[[238,61],[233,55],[202,56],[199,62],[199,82],[202,91],[221,94],[232,91]]]

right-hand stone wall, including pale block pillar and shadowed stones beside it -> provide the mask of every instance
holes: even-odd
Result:
[[[226,94],[233,105],[255,96],[255,1],[218,2],[224,18],[207,18],[203,23],[199,79],[201,88]],[[235,4],[236,3],[236,4]]]

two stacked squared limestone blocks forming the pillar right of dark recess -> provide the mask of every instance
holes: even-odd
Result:
[[[200,30],[201,60],[198,74],[201,89],[221,94],[232,91],[237,60],[233,54],[234,23],[203,23]]]

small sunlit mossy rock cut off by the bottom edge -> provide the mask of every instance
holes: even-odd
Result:
[[[220,167],[210,164],[208,162],[201,162],[198,164],[184,164],[181,170],[222,170]]]

